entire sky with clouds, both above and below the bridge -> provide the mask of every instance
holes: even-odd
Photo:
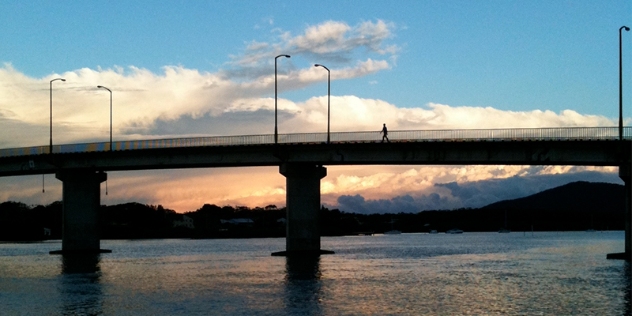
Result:
[[[0,1],[0,148],[279,133],[616,126],[612,1]],[[632,32],[622,33],[632,122]],[[479,207],[591,166],[329,166],[321,202],[361,213]],[[0,201],[61,200],[53,175],[0,178]],[[45,192],[42,192],[44,189]],[[101,202],[285,205],[278,168],[108,173]]]

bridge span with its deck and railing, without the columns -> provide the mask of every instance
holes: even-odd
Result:
[[[60,170],[311,165],[630,165],[632,128],[555,128],[220,136],[0,150],[0,177]]]

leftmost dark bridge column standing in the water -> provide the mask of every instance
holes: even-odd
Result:
[[[94,171],[62,170],[55,175],[63,182],[61,250],[51,254],[102,253],[100,249],[99,207],[101,182],[107,174]]]

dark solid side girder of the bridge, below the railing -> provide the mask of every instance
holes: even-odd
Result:
[[[630,163],[630,141],[444,141],[185,147],[0,158],[0,177],[103,171],[314,165],[575,165]]]

